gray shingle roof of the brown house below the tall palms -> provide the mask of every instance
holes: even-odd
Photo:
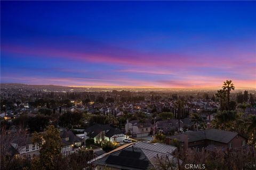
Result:
[[[238,134],[237,132],[229,132],[229,131],[223,131],[219,129],[207,129],[203,131],[177,134],[167,138],[177,139],[178,141],[183,142],[184,135],[188,135],[188,142],[208,139],[208,140],[218,141],[222,143],[228,143],[233,138],[235,138],[237,134]]]

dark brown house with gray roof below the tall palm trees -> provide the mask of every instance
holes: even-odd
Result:
[[[246,147],[247,139],[237,132],[229,132],[218,129],[207,129],[202,131],[188,132],[166,137],[166,144],[177,139],[181,146],[186,148],[215,148],[239,149]]]

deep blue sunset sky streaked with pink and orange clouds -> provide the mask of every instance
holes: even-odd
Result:
[[[1,83],[256,88],[255,8],[1,1]]]

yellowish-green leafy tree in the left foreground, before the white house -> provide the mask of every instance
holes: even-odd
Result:
[[[43,133],[33,134],[33,143],[39,146],[39,157],[34,160],[32,169],[55,169],[55,159],[60,154],[60,132],[53,125],[47,126]]]

